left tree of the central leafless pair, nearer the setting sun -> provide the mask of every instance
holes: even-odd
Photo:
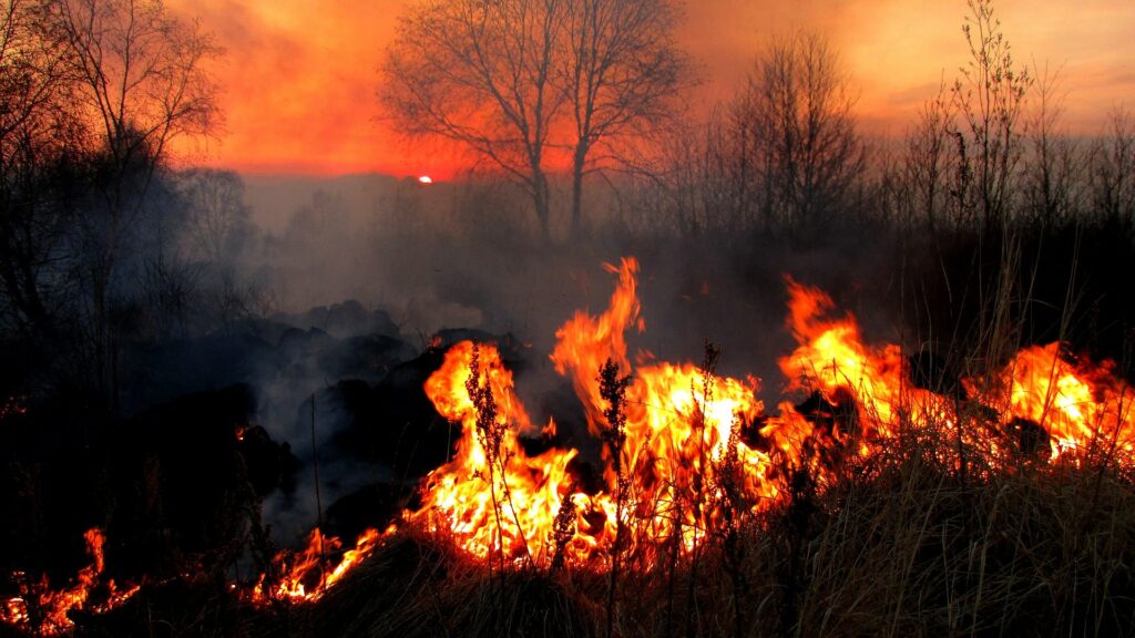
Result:
[[[380,100],[397,129],[456,141],[532,198],[550,235],[546,173],[566,0],[426,0],[409,9],[382,62]]]

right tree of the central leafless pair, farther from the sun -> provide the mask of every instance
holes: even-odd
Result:
[[[689,76],[674,43],[675,11],[667,0],[574,0],[568,3],[569,94],[574,140],[571,230],[582,223],[583,177],[617,159],[617,143],[673,112]],[[592,151],[606,153],[592,158]]]

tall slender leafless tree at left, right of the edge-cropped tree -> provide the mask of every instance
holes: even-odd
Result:
[[[115,366],[109,304],[116,266],[169,143],[216,124],[204,66],[219,51],[160,0],[49,0],[45,7],[64,47],[75,117],[92,136],[92,204],[77,225],[93,364],[106,387]]]

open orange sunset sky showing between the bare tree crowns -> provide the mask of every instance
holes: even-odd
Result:
[[[225,127],[183,148],[188,161],[255,174],[452,171],[439,148],[407,149],[377,120],[381,50],[406,0],[168,0],[226,49],[213,75]],[[1098,129],[1135,108],[1135,2],[1001,0],[1019,64],[1062,66],[1066,121]],[[964,0],[688,0],[681,41],[705,74],[701,101],[743,81],[770,35],[827,34],[873,132],[901,133],[918,104],[966,61]],[[183,145],[184,146],[184,145]]]

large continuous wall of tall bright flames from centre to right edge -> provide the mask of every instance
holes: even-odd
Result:
[[[712,349],[700,366],[651,362],[640,352],[636,360],[650,363],[632,369],[625,335],[645,329],[638,262],[628,258],[606,268],[617,277],[608,309],[578,312],[557,330],[550,355],[571,378],[590,434],[604,442],[603,489],[587,494],[574,486],[574,450],[524,453],[518,437],[533,428],[512,373],[495,346],[464,342],[426,384],[438,412],[460,422],[463,434],[451,462],[429,476],[422,507],[407,512],[407,521],[446,530],[482,559],[554,562],[553,554],[563,552],[571,562],[594,564],[629,552],[647,564],[674,543],[693,551],[728,520],[782,502],[787,469],[807,468],[822,485],[839,459],[875,454],[902,431],[960,437],[967,450],[995,457],[1008,447],[1009,426],[1024,419],[1044,429],[1053,456],[1090,442],[1135,447],[1130,388],[1110,364],[1075,363],[1060,355],[1059,344],[1034,346],[995,370],[992,384],[964,380],[967,397],[941,395],[911,383],[900,346],[866,344],[854,316],[833,316],[827,294],[791,278],[787,326],[798,347],[780,367],[788,392],[810,398],[783,401],[766,415],[756,397],[759,381],[717,376]],[[600,383],[605,366],[630,376],[617,433]],[[981,422],[974,406],[994,409],[998,422]],[[739,504],[742,511],[726,515]],[[565,530],[570,542],[557,549]]]

